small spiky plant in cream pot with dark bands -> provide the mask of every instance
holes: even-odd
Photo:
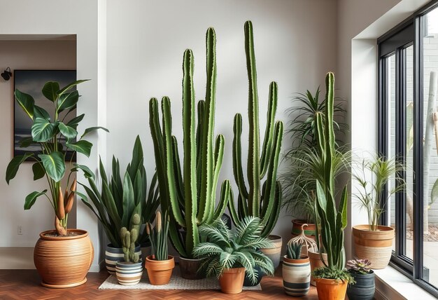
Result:
[[[304,296],[310,288],[310,261],[302,255],[302,243],[289,241],[283,257],[283,287],[290,296]]]

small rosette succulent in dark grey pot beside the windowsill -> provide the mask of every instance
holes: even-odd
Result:
[[[355,280],[354,285],[348,285],[348,299],[372,300],[376,291],[374,271],[370,269],[371,261],[368,259],[353,259],[347,261],[348,272]]]

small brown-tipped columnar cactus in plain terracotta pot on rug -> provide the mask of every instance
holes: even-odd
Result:
[[[146,257],[145,268],[151,285],[167,285],[175,267],[174,257],[167,251],[167,234],[169,233],[169,217],[162,217],[157,212],[155,228],[146,224],[146,232],[152,245],[152,254]]]

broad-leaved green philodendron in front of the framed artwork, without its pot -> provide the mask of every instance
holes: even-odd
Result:
[[[76,116],[70,121],[64,121],[66,116],[76,109],[76,104],[79,100],[77,90],[72,90],[79,83],[86,80],[79,80],[69,83],[64,88],[59,88],[59,83],[49,81],[45,83],[42,93],[44,97],[52,103],[54,107],[54,115],[50,116],[48,111],[35,104],[34,97],[20,90],[15,90],[15,100],[23,109],[24,113],[31,119],[31,137],[24,137],[20,141],[22,148],[27,148],[31,144],[41,146],[41,154],[27,152],[24,155],[15,156],[6,168],[6,182],[17,175],[20,165],[28,159],[34,160],[32,171],[34,172],[34,180],[46,177],[49,186],[48,190],[34,191],[30,193],[24,200],[24,210],[29,210],[34,205],[36,199],[40,196],[48,198],[53,210],[55,211],[55,228],[59,236],[66,236],[67,219],[71,207],[73,205],[74,193],[76,191],[76,179],[70,186],[71,175],[79,169],[85,172],[85,175],[92,176],[92,172],[85,165],[73,163],[66,164],[66,151],[73,151],[71,158],[76,152],[89,157],[92,149],[92,143],[88,142],[84,137],[90,132],[103,127],[87,128],[78,138],[78,124],[83,120],[85,114]],[[61,143],[66,139],[65,147]],[[70,168],[69,170],[67,170]],[[62,186],[62,179],[69,172],[66,186]],[[94,175],[93,175],[94,176]],[[70,187],[69,187],[70,186]]]

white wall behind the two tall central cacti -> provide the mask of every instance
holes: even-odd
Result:
[[[136,135],[141,136],[150,176],[155,168],[150,138],[150,97],[171,99],[174,134],[182,145],[181,79],[185,48],[195,54],[197,100],[205,94],[205,33],[217,34],[218,86],[216,134],[225,135],[221,179],[232,179],[232,123],[243,114],[243,153],[248,130],[248,81],[243,23],[253,21],[257,58],[260,124],[264,132],[270,81],[278,82],[277,118],[292,93],[316,90],[336,67],[336,1],[115,1],[107,3],[108,161],[129,161]],[[326,18],[330,15],[330,18]],[[262,133],[263,134],[263,133]],[[288,141],[284,142],[288,146]],[[285,150],[285,147],[283,150]],[[244,167],[245,168],[245,167]],[[245,168],[246,169],[246,168]],[[290,216],[274,233],[290,239]]]

